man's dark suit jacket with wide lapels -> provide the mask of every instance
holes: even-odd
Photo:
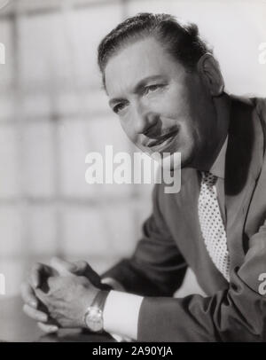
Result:
[[[200,233],[199,172],[184,169],[176,194],[155,185],[153,215],[135,254],[104,275],[129,293],[145,295],[137,340],[266,340],[266,297],[258,292],[259,274],[266,273],[265,138],[266,101],[231,98],[224,179],[230,284],[215,268]],[[187,266],[207,297],[171,297]]]

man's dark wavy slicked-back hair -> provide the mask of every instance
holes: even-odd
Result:
[[[195,24],[181,24],[169,14],[139,13],[121,22],[98,45],[98,67],[105,85],[105,68],[108,60],[124,45],[153,36],[188,71],[195,69],[200,57],[212,50],[199,35]]]

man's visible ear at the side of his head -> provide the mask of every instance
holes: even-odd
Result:
[[[197,70],[212,97],[218,97],[223,94],[223,76],[218,61],[211,54],[202,55],[198,61]]]

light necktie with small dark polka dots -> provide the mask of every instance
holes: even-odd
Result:
[[[215,263],[215,267],[229,281],[230,258],[226,232],[216,195],[216,180],[217,176],[209,172],[202,173],[198,203],[200,230],[207,252]]]

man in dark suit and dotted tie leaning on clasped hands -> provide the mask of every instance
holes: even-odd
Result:
[[[84,262],[36,265],[22,286],[25,312],[47,332],[87,326],[141,341],[265,340],[265,101],[227,95],[198,28],[170,15],[121,23],[100,44],[98,64],[129,139],[151,155],[171,153],[169,171],[182,154],[181,191],[154,187],[143,239],[102,281]],[[188,266],[207,297],[172,298]]]

